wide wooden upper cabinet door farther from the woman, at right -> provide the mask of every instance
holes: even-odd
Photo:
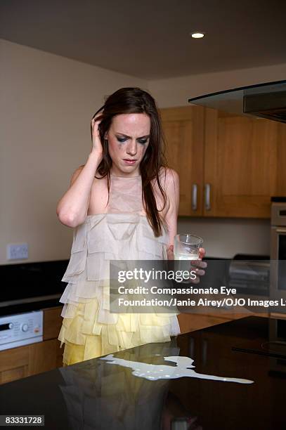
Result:
[[[271,195],[286,195],[286,125],[206,108],[204,216],[269,218]]]

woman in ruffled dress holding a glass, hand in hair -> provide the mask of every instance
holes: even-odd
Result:
[[[89,158],[57,207],[60,222],[74,228],[60,299],[64,365],[180,332],[174,314],[109,312],[110,259],[172,258],[178,174],[164,162],[155,100],[138,88],[119,89],[91,120],[91,137]]]

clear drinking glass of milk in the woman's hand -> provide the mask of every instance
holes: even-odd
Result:
[[[184,233],[174,237],[174,260],[176,271],[190,271],[190,260],[198,260],[202,237]]]

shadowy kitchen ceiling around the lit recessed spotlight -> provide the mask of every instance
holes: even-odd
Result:
[[[1,0],[0,37],[160,79],[286,63],[285,16],[286,0]]]

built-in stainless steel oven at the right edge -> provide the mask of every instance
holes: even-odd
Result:
[[[272,197],[271,298],[286,301],[286,197]],[[286,313],[286,306],[279,312]]]

